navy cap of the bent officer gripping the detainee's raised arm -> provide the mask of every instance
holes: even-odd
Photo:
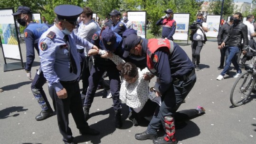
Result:
[[[115,48],[114,48],[114,43],[116,40],[115,34],[109,27],[106,27],[102,31],[101,39],[107,51],[115,51]]]

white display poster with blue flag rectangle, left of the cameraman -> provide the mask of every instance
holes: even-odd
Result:
[[[172,36],[173,39],[188,41],[190,13],[173,13],[173,19],[176,21],[176,30]]]

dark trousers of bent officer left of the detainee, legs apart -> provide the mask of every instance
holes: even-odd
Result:
[[[99,84],[100,79],[102,78],[102,75],[104,71],[107,71],[108,77],[110,80],[110,90],[112,94],[112,99],[114,103],[114,110],[119,110],[121,108],[121,102],[119,99],[119,91],[120,91],[120,75],[119,71],[116,68],[116,65],[109,59],[104,60],[97,60],[102,58],[96,58],[95,59],[95,65],[92,67],[91,75],[89,77],[89,87],[87,90],[87,94],[85,97],[85,103],[84,105],[86,107],[91,107],[95,92],[97,90],[97,86]]]

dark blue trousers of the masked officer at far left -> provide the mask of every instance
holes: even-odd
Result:
[[[34,77],[34,80],[31,84],[31,90],[34,94],[35,98],[38,101],[38,104],[41,106],[42,110],[51,110],[51,106],[47,100],[46,94],[43,90],[43,85],[46,83],[46,78],[43,74],[43,71],[41,68],[39,68],[39,75],[38,72],[36,73],[36,76]],[[54,105],[55,108],[55,105]]]

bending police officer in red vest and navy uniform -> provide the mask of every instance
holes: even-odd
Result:
[[[130,34],[123,41],[125,52],[147,55],[147,68],[157,76],[154,88],[161,95],[161,106],[156,109],[146,131],[136,134],[138,140],[153,139],[154,144],[177,144],[173,114],[196,82],[193,63],[179,45],[168,39],[142,39]],[[165,135],[157,138],[157,130],[164,127]]]

